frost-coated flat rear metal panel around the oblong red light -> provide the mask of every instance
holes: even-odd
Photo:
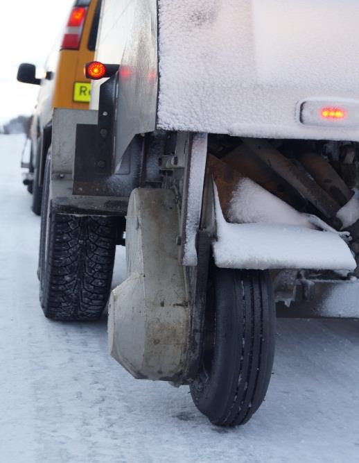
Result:
[[[358,126],[307,126],[298,113],[304,101],[359,95],[358,1],[158,3],[159,127],[359,140]]]

